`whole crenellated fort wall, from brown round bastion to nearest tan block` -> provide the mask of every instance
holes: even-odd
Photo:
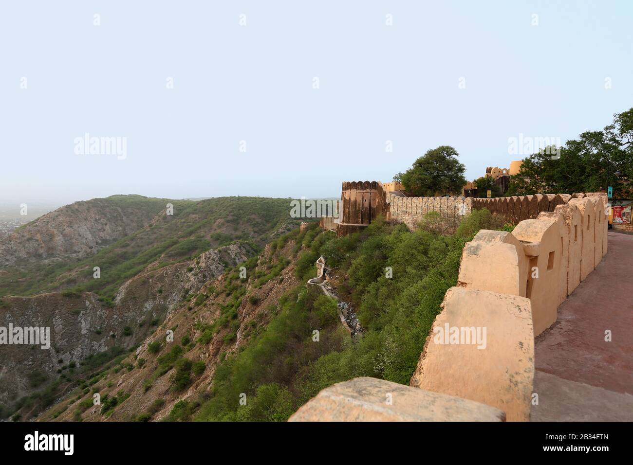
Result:
[[[355,378],[322,390],[290,421],[529,421],[534,338],[605,256],[606,194],[396,197],[379,182],[352,182],[342,200],[338,235],[379,214],[409,224],[429,211],[483,208],[516,227],[480,230],[465,245],[458,285],[444,295],[410,386]]]

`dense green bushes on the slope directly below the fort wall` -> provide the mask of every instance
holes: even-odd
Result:
[[[210,399],[196,419],[284,421],[322,388],[355,376],[407,384],[444,294],[456,284],[463,245],[480,228],[501,225],[482,210],[467,216],[453,235],[424,223],[410,232],[380,220],[338,239],[318,228],[304,230],[296,237],[296,274],[302,281],[312,277],[323,255],[345,276],[338,291],[358,309],[363,335],[349,337],[335,301],[318,288],[290,290],[263,332],[218,366]],[[179,412],[189,418],[191,408],[185,402]]]

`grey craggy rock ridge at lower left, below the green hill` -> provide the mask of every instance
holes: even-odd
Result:
[[[4,297],[4,326],[48,326],[52,344],[47,350],[34,345],[1,347],[0,414],[30,418],[77,387],[85,373],[136,347],[227,266],[254,254],[249,244],[232,244],[192,261],[149,267],[123,283],[112,303],[92,292]]]

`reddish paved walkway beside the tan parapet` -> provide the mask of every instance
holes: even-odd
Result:
[[[633,420],[633,235],[608,240],[601,263],[536,338],[532,421]]]

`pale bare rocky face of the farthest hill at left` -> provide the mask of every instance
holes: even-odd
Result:
[[[168,202],[112,195],[63,206],[0,239],[0,269],[94,255],[149,224]]]

